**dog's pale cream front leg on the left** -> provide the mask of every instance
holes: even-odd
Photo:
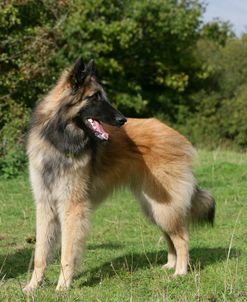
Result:
[[[31,281],[23,289],[24,292],[33,291],[41,283],[58,227],[57,217],[49,203],[44,200],[37,202],[34,270]]]

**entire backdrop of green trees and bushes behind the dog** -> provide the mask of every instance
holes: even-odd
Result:
[[[60,72],[94,58],[127,116],[158,116],[193,143],[247,146],[247,35],[204,24],[202,1],[0,4],[0,173],[23,170],[28,116]]]

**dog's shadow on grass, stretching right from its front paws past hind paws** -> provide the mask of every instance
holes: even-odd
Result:
[[[227,248],[193,248],[190,250],[192,270],[200,267],[203,270],[206,266],[216,262],[224,262],[227,259]],[[240,255],[240,250],[232,249],[229,258],[236,258]],[[164,251],[127,254],[103,263],[102,265],[85,271],[77,275],[77,278],[88,274],[87,281],[81,286],[94,286],[105,278],[116,277],[123,272],[134,272],[143,268],[162,266],[166,261],[167,254]]]

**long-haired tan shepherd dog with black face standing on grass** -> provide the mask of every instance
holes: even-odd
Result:
[[[164,234],[164,269],[185,275],[189,221],[213,223],[215,201],[197,187],[195,150],[155,118],[128,121],[108,101],[93,61],[79,58],[33,111],[27,141],[36,205],[34,271],[24,288],[41,283],[61,234],[61,272],[67,289],[89,229],[92,210],[127,186],[149,220]]]

